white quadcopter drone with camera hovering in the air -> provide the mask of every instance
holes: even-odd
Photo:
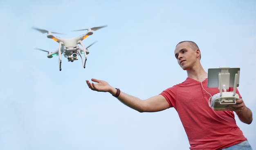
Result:
[[[71,61],[71,62],[73,62],[74,60],[78,60],[78,55],[79,55],[81,57],[81,60],[83,63],[83,68],[85,68],[87,54],[89,54],[88,48],[90,46],[92,46],[94,43],[96,43],[97,41],[95,41],[94,43],[92,43],[91,45],[89,45],[88,47],[85,48],[83,46],[82,40],[84,40],[88,36],[91,36],[93,34],[93,31],[96,31],[103,27],[107,27],[107,25],[101,26],[101,27],[88,28],[88,29],[73,30],[73,31],[87,30],[87,33],[82,34],[81,36],[74,37],[74,38],[61,38],[61,37],[53,35],[53,34],[60,34],[60,33],[51,32],[51,31],[48,31],[45,29],[38,29],[36,27],[32,27],[32,28],[37,31],[40,31],[43,34],[47,33],[47,38],[51,38],[54,41],[59,43],[58,49],[56,49],[54,52],[47,51],[44,49],[39,49],[39,48],[36,48],[36,49],[48,52],[48,54],[47,54],[48,58],[52,58],[52,57],[58,55],[59,56],[58,57],[58,65],[59,65],[59,67],[60,67],[59,69],[61,71],[61,60],[62,60],[61,55],[62,54],[65,56],[65,58],[67,58],[68,61]],[[79,47],[79,45],[81,45],[82,47]],[[82,54],[84,54],[85,61],[83,61]]]

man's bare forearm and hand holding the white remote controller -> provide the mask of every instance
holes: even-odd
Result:
[[[226,109],[236,112],[238,118],[243,123],[252,123],[252,111],[245,106],[243,99],[238,99],[236,104],[229,105]]]

